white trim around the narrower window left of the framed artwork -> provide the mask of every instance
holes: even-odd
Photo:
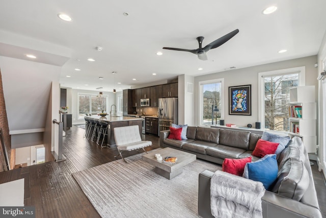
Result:
[[[198,126],[200,127],[207,127],[202,125],[203,124],[203,90],[202,90],[202,85],[205,84],[211,84],[211,83],[216,83],[216,82],[221,82],[221,119],[224,119],[224,78],[219,78],[219,79],[214,79],[214,80],[205,80],[205,81],[199,81],[198,82],[198,87],[199,87],[199,98],[198,98]]]

